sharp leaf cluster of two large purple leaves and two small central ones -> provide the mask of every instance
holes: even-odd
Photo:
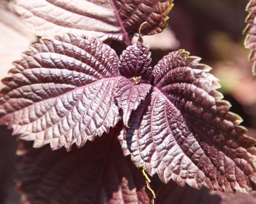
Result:
[[[115,128],[122,151],[150,175],[248,192],[255,189],[255,142],[199,60],[181,50],[152,69],[141,38],[120,59],[84,35],[44,38],[3,79],[0,124],[35,147],[70,150],[108,133],[122,118],[124,125]]]

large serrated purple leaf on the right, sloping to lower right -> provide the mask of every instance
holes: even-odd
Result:
[[[217,79],[200,58],[176,51],[154,68],[153,91],[134,111],[119,142],[137,167],[163,182],[248,192],[255,188],[255,140],[215,91]]]

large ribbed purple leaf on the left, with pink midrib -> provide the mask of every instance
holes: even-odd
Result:
[[[3,80],[0,124],[34,140],[35,147],[83,146],[119,120],[113,98],[117,62],[100,40],[73,34],[42,39]]]

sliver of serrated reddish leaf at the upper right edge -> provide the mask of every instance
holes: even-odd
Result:
[[[244,40],[244,46],[250,49],[249,59],[250,62],[253,62],[252,72],[256,74],[256,0],[250,0],[246,11],[248,11],[248,16],[246,18],[247,26],[244,29],[244,33],[246,34]]]

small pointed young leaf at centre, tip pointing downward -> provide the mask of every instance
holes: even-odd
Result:
[[[150,84],[135,84],[125,77],[121,77],[116,82],[115,100],[119,108],[123,111],[123,123],[128,126],[128,121],[132,111],[135,111],[141,102],[145,100],[151,89]]]

